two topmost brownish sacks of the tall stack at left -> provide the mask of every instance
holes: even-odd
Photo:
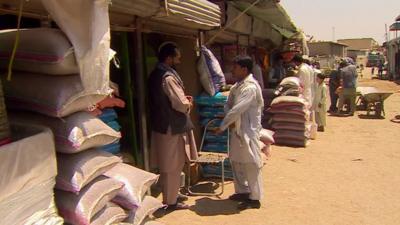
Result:
[[[19,32],[12,79],[3,83],[7,107],[64,117],[105,98],[84,90],[74,48],[62,31],[36,28]],[[16,33],[0,32],[0,68],[8,66]]]

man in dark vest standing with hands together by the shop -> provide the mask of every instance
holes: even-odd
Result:
[[[160,169],[163,203],[167,209],[188,209],[178,200],[180,175],[190,159],[197,157],[190,110],[193,102],[185,95],[181,77],[175,70],[181,53],[173,43],[159,48],[158,64],[149,78],[151,116],[151,161]]]

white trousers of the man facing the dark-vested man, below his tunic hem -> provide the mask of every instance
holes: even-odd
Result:
[[[261,200],[263,196],[262,168],[256,163],[232,162],[235,193],[250,193],[251,200]]]

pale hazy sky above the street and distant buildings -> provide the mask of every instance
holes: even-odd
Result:
[[[296,26],[314,36],[314,40],[372,37],[382,44],[385,24],[389,27],[400,15],[400,0],[281,0],[280,3]],[[394,35],[391,32],[390,37]]]

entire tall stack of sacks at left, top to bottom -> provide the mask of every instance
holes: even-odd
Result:
[[[13,37],[15,31],[0,33],[0,56],[10,55]],[[0,67],[5,61],[0,58]],[[119,151],[120,127],[109,110],[125,103],[83,89],[74,48],[60,30],[22,30],[13,70],[12,80],[4,83],[10,118],[52,130],[58,162],[55,202],[65,222],[141,224],[162,207],[145,197],[157,175],[103,151]]]

